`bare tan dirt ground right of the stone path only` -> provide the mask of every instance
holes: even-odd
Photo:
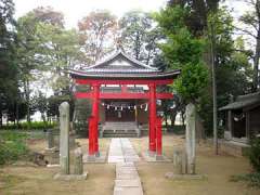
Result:
[[[173,147],[183,144],[181,136],[164,136],[164,153],[172,158]],[[139,153],[147,148],[147,139],[132,141]],[[172,164],[139,162],[138,170],[146,195],[259,195],[260,190],[249,188],[245,183],[231,182],[233,174],[250,171],[249,162],[244,157],[233,157],[223,153],[216,156],[209,145],[197,146],[197,173],[206,174],[204,180],[172,181],[166,179],[166,172],[172,171]]]

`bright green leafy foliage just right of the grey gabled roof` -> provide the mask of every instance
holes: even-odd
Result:
[[[167,6],[155,17],[167,36],[161,44],[169,69],[181,68],[173,89],[184,102],[196,102],[208,83],[208,70],[202,63],[205,41],[194,37],[185,26],[187,11],[179,5]]]

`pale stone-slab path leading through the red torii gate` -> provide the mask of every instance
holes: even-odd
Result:
[[[140,158],[129,139],[112,139],[108,162],[116,162],[114,195],[143,195],[134,161]]]

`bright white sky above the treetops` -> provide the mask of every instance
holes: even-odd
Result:
[[[64,13],[67,27],[77,27],[78,21],[94,10],[109,10],[121,16],[130,10],[158,11],[166,0],[13,0],[15,17],[23,16],[37,6],[52,6]]]

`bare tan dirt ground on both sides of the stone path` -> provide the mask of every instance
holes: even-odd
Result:
[[[147,150],[147,136],[130,139],[138,154]],[[183,144],[177,135],[164,135],[164,154],[171,158],[173,147]],[[87,152],[88,141],[78,140]],[[100,139],[101,152],[108,152],[110,139]],[[30,142],[30,148],[42,152],[46,141]],[[245,183],[231,182],[230,177],[250,171],[248,160],[225,154],[214,156],[206,144],[197,146],[197,172],[206,179],[197,181],[171,181],[164,176],[172,170],[170,162],[136,164],[145,195],[259,195],[260,190],[249,188]],[[86,181],[54,181],[58,168],[36,167],[31,165],[5,166],[0,168],[0,195],[109,195],[113,194],[115,165],[86,164],[89,176]]]

